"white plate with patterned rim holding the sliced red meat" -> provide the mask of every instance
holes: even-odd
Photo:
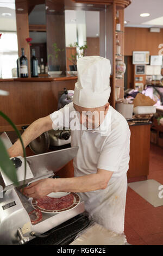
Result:
[[[50,193],[47,196],[48,197],[53,197],[53,198],[60,198],[60,197],[65,197],[67,194],[72,194],[74,196],[74,200],[72,205],[70,205],[68,208],[61,209],[61,210],[46,210],[43,208],[40,208],[40,206],[37,206],[36,199],[32,199],[32,206],[34,209],[39,209],[41,212],[45,212],[46,214],[58,214],[59,212],[65,212],[65,211],[70,211],[71,209],[75,208],[79,203],[80,203],[80,197],[78,196],[77,193],[74,192],[56,192],[56,193]]]

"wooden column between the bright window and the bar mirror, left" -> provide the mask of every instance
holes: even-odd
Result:
[[[30,47],[26,41],[29,38],[29,21],[28,21],[28,3],[16,2],[16,28],[17,28],[17,42],[18,42],[18,57],[21,56],[21,48],[24,48],[25,55],[28,58],[28,77],[30,77]],[[18,11],[21,8],[23,11]]]

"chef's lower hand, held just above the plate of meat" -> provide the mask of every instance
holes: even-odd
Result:
[[[24,188],[23,194],[27,197],[39,198],[45,197],[47,194],[54,191],[54,179],[42,179],[33,182],[28,187]]]

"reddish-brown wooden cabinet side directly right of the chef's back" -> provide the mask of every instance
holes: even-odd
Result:
[[[151,124],[130,126],[130,162],[128,181],[147,179],[149,173]]]

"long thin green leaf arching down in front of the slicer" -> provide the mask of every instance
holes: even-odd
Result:
[[[16,134],[17,134],[17,136],[18,136],[18,138],[20,139],[20,142],[21,142],[21,144],[22,144],[23,156],[24,156],[24,185],[25,185],[26,169],[27,169],[27,164],[26,164],[26,150],[25,150],[25,148],[24,148],[24,144],[23,144],[23,141],[22,141],[22,138],[21,138],[21,134],[20,134],[20,132],[17,130],[15,124],[12,123],[11,119],[10,119],[7,115],[5,115],[2,111],[0,111],[0,115],[1,115],[1,117],[3,117],[5,120],[7,120],[8,123],[12,126],[12,128],[16,131]],[[5,150],[5,151],[6,151],[6,150]],[[7,151],[6,151],[6,153],[7,153]],[[8,153],[7,153],[7,154],[8,154]],[[9,155],[8,155],[8,157],[9,157]],[[9,159],[9,160],[10,160],[10,159]],[[4,161],[4,163],[5,163],[5,161]]]

